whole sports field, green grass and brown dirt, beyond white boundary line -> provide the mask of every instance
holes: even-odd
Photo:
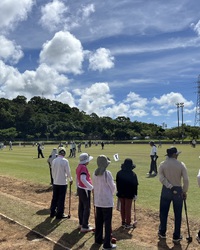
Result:
[[[159,162],[165,159],[166,149],[169,148],[170,144],[162,145],[161,148],[158,148],[158,165]],[[189,144],[182,145],[178,144],[178,150],[182,151],[179,155],[179,160],[183,161],[188,169],[188,175],[190,179],[190,187],[187,198],[187,210],[188,217],[190,223],[190,230],[193,236],[193,242],[190,244],[188,249],[198,249],[196,247],[200,247],[196,245],[195,235],[197,233],[197,229],[200,228],[200,199],[199,192],[200,189],[197,185],[197,173],[200,168],[200,149],[199,145],[196,148],[192,148]],[[47,158],[51,153],[54,146],[45,145],[44,148],[44,156],[45,158],[37,158],[37,148],[33,146],[14,146],[13,150],[9,150],[9,148],[4,148],[0,151],[0,176],[1,176],[1,204],[0,204],[0,212],[8,217],[16,218],[23,225],[30,228],[36,228],[37,225],[41,225],[41,227],[37,227],[38,230],[42,230],[42,233],[48,237],[52,237],[55,241],[60,237],[59,234],[62,234],[67,229],[67,234],[73,235],[73,239],[70,237],[69,240],[67,237],[65,238],[65,246],[70,249],[99,249],[96,246],[93,246],[94,239],[90,234],[82,236],[80,239],[80,235],[75,231],[77,226],[77,197],[75,196],[76,187],[75,182],[72,186],[72,217],[70,220],[62,222],[60,225],[56,225],[56,230],[52,230],[51,232],[46,232],[48,226],[44,223],[45,220],[48,219],[48,208],[50,205],[51,199],[51,189],[50,189],[50,177],[49,177],[49,168],[47,164]],[[123,163],[125,158],[132,158],[134,163],[136,164],[136,168],[134,171],[136,172],[139,180],[139,190],[138,190],[138,199],[136,201],[136,209],[138,216],[138,226],[133,232],[122,232],[120,227],[120,215],[114,209],[113,216],[113,227],[114,232],[117,236],[117,245],[118,249],[172,249],[169,247],[171,243],[168,243],[168,248],[166,246],[160,244],[158,247],[158,239],[157,239],[157,226],[159,223],[159,198],[161,191],[161,184],[158,180],[158,177],[147,178],[146,173],[149,171],[150,164],[150,146],[148,143],[146,144],[106,144],[104,150],[101,149],[101,146],[92,145],[92,147],[84,148],[82,146],[82,152],[87,152],[94,157],[94,159],[90,162],[88,168],[90,173],[92,174],[96,168],[96,158],[100,154],[105,154],[111,159],[111,164],[109,165],[109,170],[112,172],[113,177],[115,179],[117,171],[120,169],[121,164]],[[115,161],[113,155],[119,154],[119,161]],[[69,148],[67,148],[67,156],[69,155]],[[78,164],[78,155],[76,158],[68,158],[70,162],[72,176],[75,179],[75,169]],[[5,178],[4,178],[5,177]],[[14,190],[12,193],[9,187],[12,185],[12,182],[9,183],[9,186],[5,188],[5,181],[13,180]],[[17,188],[18,183],[21,188]],[[24,189],[22,189],[24,187]],[[32,188],[31,188],[32,187]],[[37,189],[38,187],[38,189]],[[16,193],[15,193],[16,190]],[[35,190],[35,192],[34,192]],[[38,190],[46,190],[46,192],[39,192]],[[47,191],[48,190],[48,191]],[[18,193],[21,192],[21,199]],[[30,191],[30,192],[29,192]],[[36,192],[38,191],[38,192]],[[22,199],[22,193],[28,193],[29,196],[24,195]],[[7,194],[7,195],[6,195]],[[17,197],[16,199],[12,198]],[[27,198],[26,198],[27,197]],[[25,202],[29,201],[29,203]],[[43,199],[43,200],[41,200]],[[14,201],[15,200],[15,201]],[[38,205],[38,202],[41,203],[43,209],[46,209],[46,213],[43,217],[38,215],[36,206],[31,206],[30,202]],[[43,201],[45,200],[44,204]],[[24,203],[25,202],[25,203]],[[25,204],[25,205],[24,205]],[[40,205],[40,204],[39,204]],[[38,205],[38,206],[39,206]],[[42,210],[42,209],[41,209]],[[23,216],[19,215],[23,213]],[[23,211],[23,212],[22,212]],[[66,198],[66,213],[68,212],[68,194]],[[31,214],[31,215],[30,215]],[[172,211],[171,211],[172,215]],[[183,217],[185,217],[183,211]],[[13,218],[13,219],[14,219]],[[70,222],[70,224],[69,224]],[[93,221],[93,215],[91,211],[91,222]],[[64,226],[64,224],[66,225]],[[48,221],[47,221],[48,224]],[[183,236],[187,237],[187,228],[185,225],[185,219],[183,218]],[[171,231],[173,229],[173,218],[169,219],[169,240],[171,239]],[[46,231],[45,231],[46,230]],[[72,232],[73,231],[73,234]],[[171,230],[171,231],[170,231]],[[65,232],[66,233],[66,232]],[[146,238],[145,238],[146,237]],[[87,240],[86,240],[87,239]],[[68,241],[68,242],[66,242]],[[84,245],[83,242],[85,241]],[[171,242],[171,241],[169,241]],[[183,241],[183,246],[186,244],[186,240]],[[134,245],[134,246],[133,246]],[[125,248],[126,246],[126,248]],[[79,248],[78,248],[79,247]],[[1,248],[0,248],[1,249]],[[55,248],[52,248],[55,249]],[[175,248],[173,248],[175,249]],[[184,248],[179,248],[184,249]]]

